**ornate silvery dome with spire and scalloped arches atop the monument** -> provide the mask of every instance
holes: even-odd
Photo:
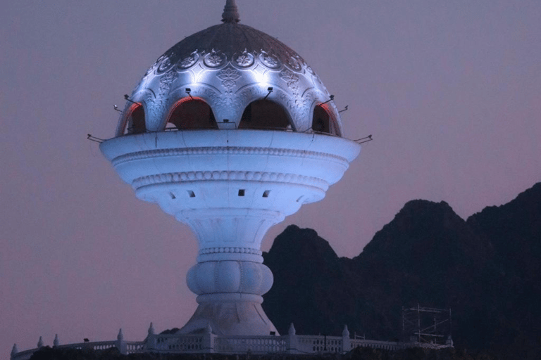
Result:
[[[136,86],[130,100],[143,105],[148,131],[163,131],[171,109],[183,98],[205,101],[220,129],[238,127],[247,106],[265,98],[286,111],[293,131],[311,131],[314,108],[325,103],[332,132],[342,134],[329,92],[299,54],[274,37],[239,24],[235,1],[227,1],[222,21],[163,53]],[[123,134],[130,105],[117,136]]]

